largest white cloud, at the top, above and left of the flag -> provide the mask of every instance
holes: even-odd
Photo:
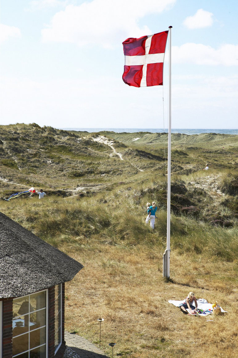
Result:
[[[148,14],[162,13],[176,0],[93,0],[80,6],[68,5],[56,13],[51,24],[41,31],[43,42],[70,42],[80,46],[98,44],[113,47],[127,37],[150,34],[138,20]]]

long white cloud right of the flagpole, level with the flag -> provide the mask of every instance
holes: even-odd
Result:
[[[174,63],[190,63],[199,65],[238,65],[238,45],[223,44],[218,49],[195,43],[173,46],[172,61]]]

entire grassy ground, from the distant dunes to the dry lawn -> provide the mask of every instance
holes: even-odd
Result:
[[[0,131],[1,196],[23,184],[43,186],[48,193],[44,200],[1,200],[1,211],[84,265],[66,284],[67,330],[99,344],[97,319],[103,317],[101,347],[111,356],[108,343],[116,342],[115,357],[237,355],[237,136],[173,137],[168,281],[162,277],[164,134],[100,133],[115,140],[122,161],[110,147],[93,144],[90,138],[98,134],[24,125],[1,126]],[[37,143],[39,133],[45,145]],[[53,141],[47,140],[49,134]],[[43,163],[34,167],[35,160],[20,161],[7,139],[11,136],[19,137],[18,149],[22,137],[28,138],[31,145],[22,150],[29,149],[31,156],[36,152]],[[143,140],[133,141],[137,137]],[[201,170],[207,161],[208,172]],[[145,205],[153,200],[158,219],[151,231],[145,226]],[[189,291],[218,301],[228,314],[196,318],[168,303]]]

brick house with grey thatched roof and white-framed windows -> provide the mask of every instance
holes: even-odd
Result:
[[[83,268],[0,213],[0,357],[62,357],[64,282]]]

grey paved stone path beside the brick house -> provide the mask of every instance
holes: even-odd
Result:
[[[89,342],[78,334],[71,334],[64,332],[64,339],[66,345],[74,350],[81,358],[109,358],[102,350],[96,347],[93,343]]]

